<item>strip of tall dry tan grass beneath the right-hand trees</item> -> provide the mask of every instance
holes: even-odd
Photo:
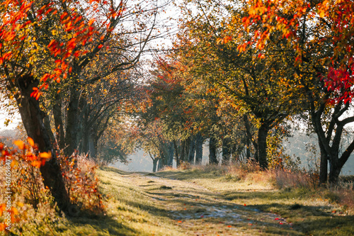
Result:
[[[219,177],[220,181],[237,182],[237,189],[268,189],[280,191],[298,191],[311,193],[314,198],[324,199],[329,203],[336,204],[341,210],[354,213],[354,176],[342,176],[337,186],[324,188],[319,187],[319,175],[314,172],[297,171],[291,172],[286,169],[261,170],[254,162],[246,164],[232,164],[229,167],[206,165],[190,166],[187,169],[169,169],[167,171],[184,171],[179,178],[188,179],[198,176],[200,183],[210,181],[203,178],[208,176]],[[217,182],[214,186],[219,186]],[[227,187],[229,186],[229,187]],[[223,190],[231,190],[234,184],[223,183],[219,186]]]

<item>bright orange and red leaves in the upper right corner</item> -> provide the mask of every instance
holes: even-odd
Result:
[[[321,64],[327,72],[319,73],[331,101],[348,103],[354,98],[353,1],[249,1],[247,16],[242,18],[247,32],[253,28],[249,40],[239,45],[240,51],[248,47],[263,50],[270,38],[280,33],[295,52],[295,64],[308,62],[309,52],[320,53]],[[235,25],[238,19],[233,19]],[[306,25],[308,23],[309,25]],[[308,30],[312,38],[305,35]],[[318,31],[317,31],[318,30]],[[326,48],[326,50],[321,50]]]

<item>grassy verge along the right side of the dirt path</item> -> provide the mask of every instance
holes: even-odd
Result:
[[[220,167],[168,170],[156,176],[195,182],[233,203],[279,214],[304,235],[354,235],[353,206],[350,199],[343,200],[353,198],[353,189],[314,188],[304,184],[306,176]]]

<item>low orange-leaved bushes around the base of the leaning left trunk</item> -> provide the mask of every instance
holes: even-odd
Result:
[[[44,186],[39,168],[45,165],[51,155],[47,152],[38,153],[37,147],[29,137],[27,142],[16,140],[17,149],[10,149],[0,143],[1,162],[11,160],[11,208],[6,203],[0,205],[0,218],[6,212],[11,214],[12,230],[21,230],[26,223],[31,222],[31,216],[42,210],[48,218],[57,218],[55,201],[50,189]],[[59,155],[65,186],[70,194],[72,208],[69,213],[78,214],[84,210],[87,213],[101,213],[104,210],[103,197],[98,192],[98,179],[95,176],[96,165],[85,157],[64,157]],[[74,162],[79,167],[74,167]],[[5,167],[5,165],[4,165]],[[9,192],[5,185],[5,168],[1,167],[1,191]],[[5,202],[5,201],[4,201]],[[57,216],[55,216],[57,215]],[[52,219],[53,220],[53,219]],[[0,224],[0,231],[6,229],[5,221]],[[14,228],[14,229],[13,229]]]

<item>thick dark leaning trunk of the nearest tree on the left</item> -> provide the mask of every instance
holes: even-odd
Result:
[[[38,80],[33,79],[33,77],[27,76],[18,79],[18,89],[21,92],[21,95],[16,97],[18,110],[28,137],[31,137],[38,145],[38,150],[40,152],[52,152],[52,158],[40,167],[40,173],[43,177],[43,183],[50,189],[59,209],[67,211],[70,206],[69,195],[65,188],[56,154],[50,143],[50,137],[43,123],[45,113],[40,110],[38,101],[30,96],[34,87],[38,87]]]

